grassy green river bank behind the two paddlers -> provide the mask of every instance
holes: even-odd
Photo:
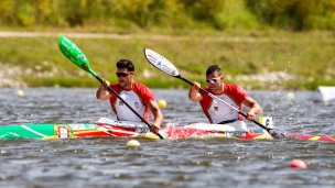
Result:
[[[172,62],[180,74],[205,85],[205,71],[218,64],[227,82],[247,89],[315,89],[335,86],[335,33],[329,31],[193,31],[187,34],[7,33],[0,37],[0,63],[8,78],[29,87],[98,87],[58,49],[58,36],[72,40],[102,78],[116,81],[116,62],[129,58],[136,80],[150,88],[188,88],[182,80],[151,67],[143,48]],[[3,77],[6,77],[6,74]]]

